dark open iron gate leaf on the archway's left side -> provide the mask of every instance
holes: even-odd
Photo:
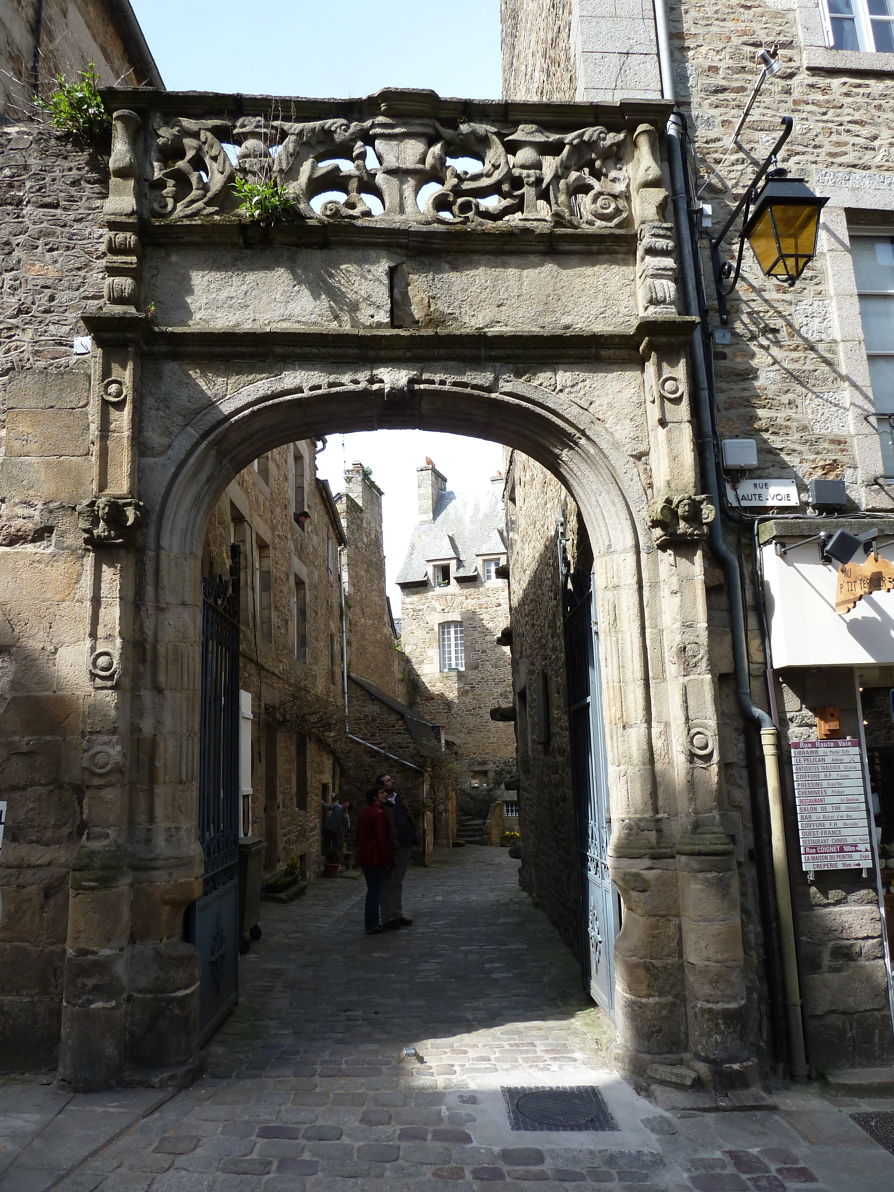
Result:
[[[199,1044],[238,1001],[240,547],[230,575],[201,581],[199,842],[201,896],[187,935],[201,958]]]

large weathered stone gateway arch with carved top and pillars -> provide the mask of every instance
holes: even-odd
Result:
[[[70,873],[62,1075],[101,1084],[193,1056],[197,957],[180,923],[201,873],[197,658],[211,505],[274,446],[387,427],[504,442],[577,501],[596,558],[611,865],[626,906],[616,1058],[639,1073],[685,1058],[710,1079],[740,1066],[738,879],[702,571],[713,510],[699,495],[693,321],[675,306],[664,217],[666,105],[460,110],[383,93],[311,104],[306,123],[280,128],[260,100],[243,98],[238,110],[256,114],[236,119],[226,97],[198,113],[186,97],[117,99],[106,306],[85,318],[93,477],[79,514],[92,600],[70,645],[88,656],[87,830]],[[272,234],[241,224],[219,138],[240,144],[250,173],[274,134],[290,160],[304,155],[302,203],[327,153],[348,135],[372,139],[385,222],[358,206],[358,176],[340,174],[346,203],[322,217],[302,209],[300,224]],[[451,137],[489,163],[473,195],[439,157]],[[427,179],[443,182],[440,197],[414,210]],[[501,186],[514,223],[479,209]],[[448,207],[455,226],[439,215]],[[349,318],[340,271],[362,296]],[[161,325],[142,310],[143,278]],[[418,311],[410,325],[395,300],[404,286]],[[288,318],[263,327],[271,287]]]

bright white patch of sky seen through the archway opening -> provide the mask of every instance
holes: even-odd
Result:
[[[395,584],[395,577],[418,521],[416,468],[426,462],[426,455],[447,477],[447,488],[454,492],[489,490],[491,476],[503,466],[499,443],[429,430],[366,430],[343,436],[329,435],[325,451],[317,455],[317,476],[329,480],[334,493],[341,492],[344,486],[342,459],[348,466],[359,459],[372,468],[373,480],[384,493],[385,578],[395,616],[401,616],[401,589]]]

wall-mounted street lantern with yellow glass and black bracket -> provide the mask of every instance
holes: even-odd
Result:
[[[808,261],[817,253],[819,213],[828,199],[818,198],[803,179],[788,178],[784,169],[776,166],[776,156],[788,141],[794,122],[790,116],[782,118],[783,130],[766,161],[755,175],[733,213],[724,224],[719,236],[712,238],[710,259],[714,266],[714,285],[718,292],[720,322],[728,322],[726,298],[735,288],[741,269],[745,241],[757,257],[757,263],[768,278],[778,278],[793,286],[801,277]],[[774,168],[770,170],[770,166]],[[769,174],[768,174],[768,170]],[[755,198],[758,184],[766,176],[763,190]],[[753,211],[751,204],[755,204]],[[739,232],[739,252],[735,272],[728,261],[720,260],[720,244],[741,211],[745,218]],[[732,277],[728,288],[724,281]]]

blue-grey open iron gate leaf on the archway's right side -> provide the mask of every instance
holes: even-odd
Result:
[[[608,869],[608,760],[591,577],[582,581],[575,576],[565,594],[565,665],[588,968],[585,981],[594,1000],[613,1017],[617,895]]]

